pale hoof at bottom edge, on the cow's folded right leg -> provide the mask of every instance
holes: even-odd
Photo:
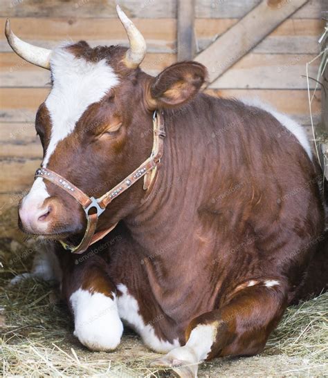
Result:
[[[155,359],[150,363],[152,368],[170,369],[177,377],[181,378],[195,378],[197,377],[198,364],[190,363],[189,361],[183,361],[181,359],[175,359],[168,355]]]

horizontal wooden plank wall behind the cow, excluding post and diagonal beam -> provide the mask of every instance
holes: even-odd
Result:
[[[291,1],[291,0],[284,0]],[[282,1],[282,6],[284,6]],[[297,1],[297,0],[293,0]],[[259,0],[196,0],[195,36],[198,51],[231,28]],[[10,17],[22,39],[52,48],[60,41],[86,39],[98,44],[126,44],[111,0],[1,0],[0,25]],[[143,68],[156,74],[176,62],[176,0],[118,1],[147,40]],[[208,91],[224,96],[253,96],[270,102],[308,127],[305,64],[318,53],[325,0],[310,0],[286,19]],[[231,41],[231,48],[234,41]],[[224,62],[224,57],[223,57]],[[316,77],[316,65],[310,75]],[[0,211],[15,205],[33,182],[42,157],[33,126],[37,106],[49,91],[49,73],[26,63],[0,35]],[[311,82],[311,85],[313,83]],[[313,108],[317,122],[320,98]]]

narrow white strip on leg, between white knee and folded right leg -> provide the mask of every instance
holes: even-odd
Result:
[[[166,353],[180,345],[178,339],[175,339],[173,343],[158,339],[152,325],[144,323],[142,316],[140,316],[138,302],[128,293],[127,287],[120,283],[118,290],[122,292],[122,295],[118,296],[120,318],[140,334],[143,342],[149,348],[159,353]]]

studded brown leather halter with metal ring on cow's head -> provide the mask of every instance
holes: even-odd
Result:
[[[100,198],[87,196],[82,190],[78,189],[78,187],[75,187],[75,185],[66,180],[66,178],[63,178],[58,173],[55,173],[50,169],[37,169],[37,171],[35,172],[35,178],[45,178],[46,180],[49,180],[53,184],[57,185],[57,187],[64,189],[80,203],[85,211],[87,225],[80,244],[75,246],[71,245],[70,243],[65,243],[63,240],[60,240],[60,243],[62,243],[64,249],[71,251],[74,254],[82,254],[83,252],[85,252],[89,245],[102,239],[116,227],[117,223],[109,229],[99,231],[95,234],[98,218],[100,214],[102,214],[107,206],[111,203],[111,201],[120,196],[120,194],[129,189],[129,187],[134,185],[134,183],[142,177],[144,177],[143,189],[147,190],[150,187],[156,174],[157,165],[161,161],[161,157],[163,155],[163,138],[165,137],[163,116],[158,113],[158,111],[154,111],[153,125],[154,142],[152,154],[135,171],[133,171],[129,176],[127,176],[118,185],[116,185],[116,187],[113,187],[111,190],[107,191],[107,193],[104,193],[104,195]],[[89,211],[91,209],[95,209],[95,214],[89,214]]]

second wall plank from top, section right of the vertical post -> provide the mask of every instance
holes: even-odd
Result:
[[[195,20],[199,50],[208,47],[219,35],[237,23],[238,19]],[[263,39],[253,53],[259,54],[317,54],[318,37],[325,21],[321,19],[286,19]]]

